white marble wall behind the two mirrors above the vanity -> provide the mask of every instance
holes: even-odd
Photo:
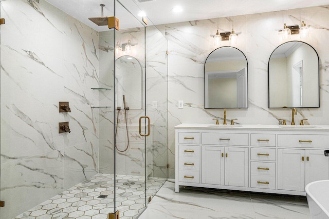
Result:
[[[283,24],[309,26],[304,42],[320,58],[320,108],[298,109],[296,121],[308,118],[309,124],[329,124],[329,6],[205,19],[158,26],[169,41],[169,178],[175,177],[175,129],[181,123],[213,123],[222,120],[222,109],[204,109],[204,62],[214,50],[211,34],[218,29],[239,32],[236,48],[248,60],[249,108],[229,109],[227,118],[240,124],[278,124],[278,118],[291,120],[289,109],[268,109],[267,64],[271,52],[284,43],[278,30]],[[292,35],[290,40],[300,40]],[[222,46],[229,46],[222,42]],[[178,101],[184,109],[178,109]],[[223,121],[220,121],[223,123]]]

